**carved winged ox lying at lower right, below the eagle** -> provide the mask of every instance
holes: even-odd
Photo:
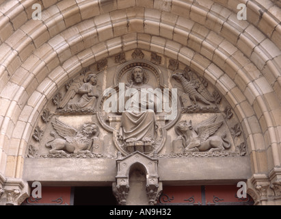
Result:
[[[204,122],[193,126],[192,121],[181,121],[175,127],[178,134],[177,140],[183,140],[185,152],[194,151],[222,151],[230,149],[230,142],[226,140],[226,133],[223,136],[213,136],[224,122],[217,122],[217,116],[213,116]]]

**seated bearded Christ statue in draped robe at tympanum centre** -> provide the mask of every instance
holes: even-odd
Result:
[[[133,68],[131,83],[126,85],[125,110],[122,112],[119,139],[126,144],[135,142],[153,144],[155,141],[155,112],[157,96],[153,88],[146,84],[148,81],[144,69],[140,66]]]

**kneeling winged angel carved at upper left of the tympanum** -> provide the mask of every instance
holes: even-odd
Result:
[[[75,79],[59,104],[59,108],[62,109],[67,105],[68,110],[93,110],[99,95],[96,82],[97,75],[91,72]],[[77,103],[68,103],[76,94],[82,95],[79,101]]]

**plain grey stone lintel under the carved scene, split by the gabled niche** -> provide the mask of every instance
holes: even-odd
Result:
[[[104,185],[116,181],[116,159],[27,158],[23,179],[42,185]],[[252,177],[248,157],[159,158],[163,185],[234,184]]]

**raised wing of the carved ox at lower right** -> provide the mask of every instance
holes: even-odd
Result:
[[[213,116],[211,119],[208,120],[208,122],[204,122],[204,125],[200,125],[197,127],[198,135],[201,140],[201,142],[206,141],[210,136],[212,136],[219,127],[222,126],[224,123],[223,121],[214,123],[217,116]],[[213,120],[212,123],[209,123],[211,120]],[[209,123],[209,124],[208,124]]]

